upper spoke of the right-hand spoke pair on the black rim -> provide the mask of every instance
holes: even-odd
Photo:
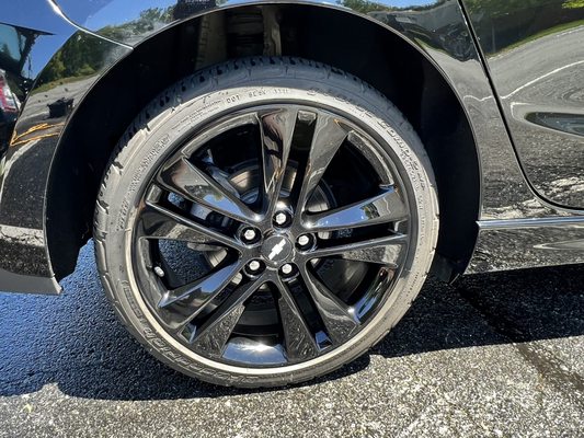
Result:
[[[368,227],[403,220],[408,209],[393,186],[382,188],[381,194],[350,206],[336,208],[307,217],[311,231],[333,231],[345,228]]]

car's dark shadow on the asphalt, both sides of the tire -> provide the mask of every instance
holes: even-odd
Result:
[[[430,280],[398,326],[369,354],[314,383],[386,358],[450,348],[584,335],[581,266]],[[56,384],[100,400],[173,400],[245,391],[190,379],[159,364],[117,323],[83,249],[65,296],[0,293],[0,396]]]

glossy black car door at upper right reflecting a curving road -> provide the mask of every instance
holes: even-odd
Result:
[[[531,186],[584,208],[584,0],[461,0]]]

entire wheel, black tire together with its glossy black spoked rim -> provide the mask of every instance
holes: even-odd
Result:
[[[185,374],[245,388],[367,351],[419,293],[437,235],[432,168],[403,115],[351,74],[286,57],[229,61],[160,94],[119,140],[94,221],[127,330]],[[187,255],[171,263],[167,244]],[[191,263],[206,273],[179,281]]]

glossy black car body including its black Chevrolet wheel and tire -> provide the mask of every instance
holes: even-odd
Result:
[[[581,0],[0,11],[0,289],[59,293],[93,239],[119,320],[186,374],[306,381],[428,274],[584,262]]]

